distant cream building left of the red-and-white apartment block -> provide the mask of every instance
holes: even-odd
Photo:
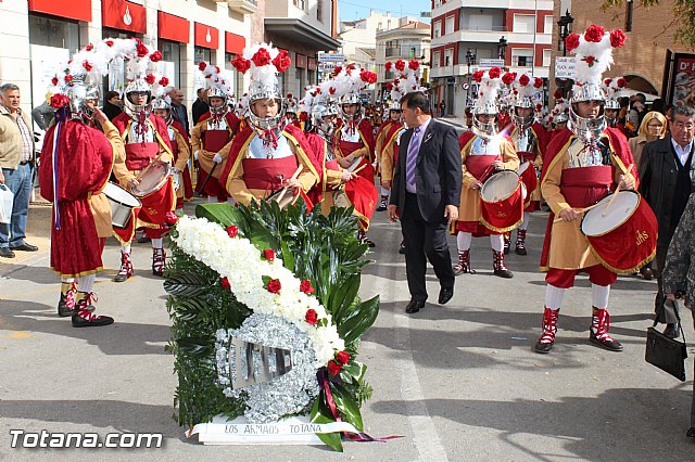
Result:
[[[375,95],[377,99],[388,98],[387,86],[396,77],[394,70],[386,70],[384,65],[388,62],[419,61],[421,84],[428,84],[431,41],[430,25],[417,21],[394,29],[377,31],[376,72],[379,77],[378,90]]]

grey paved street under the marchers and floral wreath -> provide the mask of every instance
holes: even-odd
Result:
[[[162,280],[151,275],[148,244],[134,246],[136,277],[111,282],[118,247],[110,240],[94,286],[98,309],[116,323],[73,329],[58,318],[59,280],[48,268],[50,207],[33,206],[30,242],[40,253],[0,260],[0,459],[463,461],[692,460],[688,382],[644,361],[654,281],[624,277],[611,294],[611,321],[622,354],[589,341],[586,279],[568,292],[554,351],[532,352],[544,298],[538,272],[545,214],[532,216],[529,255],[510,255],[513,280],[492,275],[486,239],[473,241],[477,274],[457,278],[445,307],[407,316],[400,228],[377,213],[361,293],[381,295],[381,313],[365,335],[361,359],[375,388],[364,407],[372,436],[386,444],[325,447],[215,447],[184,437],[173,420],[176,377]],[[452,253],[455,242],[452,239]],[[438,284],[428,279],[430,300]],[[687,315],[687,313],[686,313]],[[691,322],[685,335],[695,342]],[[695,351],[691,348],[691,357]],[[10,429],[163,433],[161,449],[12,449]]]

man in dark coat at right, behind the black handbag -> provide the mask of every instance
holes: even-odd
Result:
[[[659,291],[655,304],[656,320],[666,323],[664,333],[678,337],[675,313],[664,309],[662,278],[666,253],[678,222],[683,215],[695,181],[693,137],[695,108],[679,106],[673,110],[670,134],[662,140],[645,144],[640,162],[640,193],[654,209],[659,223],[656,266]]]

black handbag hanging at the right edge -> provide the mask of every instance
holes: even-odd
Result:
[[[667,300],[669,303],[670,300]],[[668,372],[681,382],[685,382],[685,358],[687,358],[687,347],[685,345],[685,334],[681,324],[681,317],[678,312],[678,305],[673,301],[673,310],[678,319],[678,325],[681,329],[683,342],[669,338],[654,326],[647,328],[647,348],[644,359],[653,365],[656,365],[664,372]],[[657,321],[654,321],[654,325]]]

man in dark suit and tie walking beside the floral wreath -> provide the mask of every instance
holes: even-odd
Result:
[[[439,303],[444,305],[454,296],[446,235],[448,224],[458,218],[462,161],[456,132],[432,119],[424,92],[406,93],[401,108],[409,128],[401,138],[388,214],[391,221],[396,220],[397,211],[401,214],[410,291],[405,312],[413,313],[427,300],[427,259],[440,282]]]

